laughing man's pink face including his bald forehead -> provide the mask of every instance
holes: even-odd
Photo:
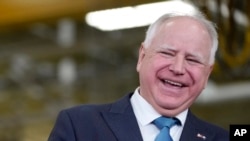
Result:
[[[187,109],[212,70],[211,44],[206,29],[191,18],[173,18],[160,26],[150,46],[140,48],[140,95],[165,116]]]

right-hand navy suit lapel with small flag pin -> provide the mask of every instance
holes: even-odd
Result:
[[[214,134],[189,111],[180,141],[212,141]]]

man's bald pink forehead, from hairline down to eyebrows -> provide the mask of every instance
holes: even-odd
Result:
[[[212,40],[206,27],[196,19],[174,17],[159,26],[152,45],[158,49],[181,49],[188,54],[208,56]]]

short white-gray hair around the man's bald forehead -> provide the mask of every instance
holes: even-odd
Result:
[[[164,22],[167,20],[173,18],[173,17],[181,17],[181,16],[188,16],[196,21],[200,22],[205,26],[207,29],[211,39],[212,39],[212,47],[210,52],[210,60],[209,64],[214,64],[215,61],[215,54],[218,49],[218,34],[216,31],[216,25],[209,21],[202,12],[200,12],[198,9],[194,9],[195,11],[190,12],[170,12],[166,13],[163,16],[161,16],[158,20],[156,20],[153,24],[151,24],[146,32],[146,37],[144,40],[144,46],[147,48],[150,46],[151,41],[153,37],[155,36],[156,30],[158,27],[160,27]]]

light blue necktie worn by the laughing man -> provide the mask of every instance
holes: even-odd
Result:
[[[178,119],[159,117],[153,123],[160,129],[160,133],[156,136],[155,141],[173,141],[169,131],[173,125],[178,124]]]

